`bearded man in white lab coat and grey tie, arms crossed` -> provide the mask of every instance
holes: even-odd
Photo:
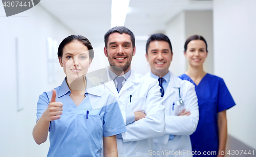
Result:
[[[152,156],[149,151],[153,150],[153,138],[164,135],[165,129],[158,81],[131,68],[136,48],[134,34],[129,29],[112,28],[105,34],[104,41],[112,81],[102,87],[116,95],[127,129],[117,135],[118,156]]]

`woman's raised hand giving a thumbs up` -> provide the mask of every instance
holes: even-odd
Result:
[[[52,91],[52,99],[50,103],[48,104],[48,108],[43,113],[42,116],[44,116],[45,120],[47,121],[53,121],[60,118],[60,115],[62,114],[62,106],[63,104],[61,102],[56,102],[56,90],[54,89]]]

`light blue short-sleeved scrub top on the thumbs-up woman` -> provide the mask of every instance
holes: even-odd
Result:
[[[100,156],[102,136],[126,131],[116,97],[109,91],[94,87],[77,107],[69,96],[66,79],[55,88],[56,102],[63,103],[60,119],[50,122],[50,148],[47,156]],[[47,109],[52,91],[44,92],[37,102],[37,119]]]

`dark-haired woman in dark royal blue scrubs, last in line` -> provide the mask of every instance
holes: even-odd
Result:
[[[226,110],[235,103],[223,79],[203,69],[208,54],[206,40],[199,35],[190,36],[184,48],[189,68],[179,77],[195,85],[199,106],[197,129],[190,135],[194,156],[224,156],[219,151],[226,146]]]

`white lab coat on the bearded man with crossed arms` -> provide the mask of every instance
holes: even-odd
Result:
[[[164,106],[158,81],[135,73],[126,80],[120,92],[117,92],[113,81],[102,81],[100,86],[111,91],[117,98],[124,122],[125,112],[140,111],[145,118],[126,125],[127,131],[122,133],[123,139],[117,139],[118,156],[152,156],[153,138],[164,135]],[[130,102],[130,95],[132,95]]]

